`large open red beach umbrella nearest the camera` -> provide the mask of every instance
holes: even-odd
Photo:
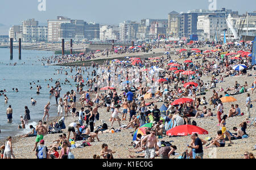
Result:
[[[208,131],[193,125],[180,125],[172,128],[166,132],[168,136],[187,136],[191,134],[208,134]]]

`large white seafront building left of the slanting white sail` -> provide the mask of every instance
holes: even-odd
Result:
[[[200,15],[197,18],[197,35],[199,40],[221,40],[221,34],[227,29],[225,16],[223,15]]]

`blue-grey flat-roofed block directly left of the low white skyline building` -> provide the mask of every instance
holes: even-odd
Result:
[[[85,22],[84,32],[85,39],[100,40],[100,24]]]

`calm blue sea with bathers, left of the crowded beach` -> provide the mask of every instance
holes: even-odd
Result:
[[[50,87],[55,87],[55,82],[60,80],[62,88],[60,96],[72,89],[76,91],[76,82],[71,78],[70,68],[55,65],[47,66],[45,61],[41,61],[42,57],[50,57],[53,52],[22,50],[21,59],[19,59],[18,49],[14,49],[13,53],[13,60],[10,60],[10,49],[0,48],[0,90],[6,90],[7,92],[4,94],[9,98],[8,103],[5,103],[5,97],[0,96],[0,139],[30,132],[29,125],[36,126],[37,122],[42,120],[44,105],[48,101],[51,102],[49,116],[57,116],[55,96],[49,95],[48,84]],[[42,62],[45,63],[44,66]],[[14,63],[16,63],[15,66]],[[57,74],[57,69],[63,73]],[[68,71],[68,75],[64,74],[65,71]],[[73,69],[72,74],[76,74],[75,69]],[[53,79],[52,82],[49,80],[51,78]],[[65,78],[70,83],[65,83]],[[42,87],[39,95],[36,94],[37,85]],[[13,91],[13,88],[18,88],[18,92]],[[34,107],[31,105],[31,97],[37,101]],[[7,123],[6,116],[6,109],[9,105],[13,108],[13,122],[11,124]],[[20,116],[24,117],[25,106],[30,110],[31,120],[26,125],[26,129],[20,130],[18,129],[21,124]]]

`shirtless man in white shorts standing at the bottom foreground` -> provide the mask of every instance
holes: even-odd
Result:
[[[155,130],[151,129],[150,134],[146,135],[141,141],[141,146],[143,147],[143,143],[147,141],[146,150],[145,150],[145,158],[146,159],[154,159],[155,158],[155,148],[157,146],[158,139],[155,136]],[[144,148],[144,147],[143,147]]]

